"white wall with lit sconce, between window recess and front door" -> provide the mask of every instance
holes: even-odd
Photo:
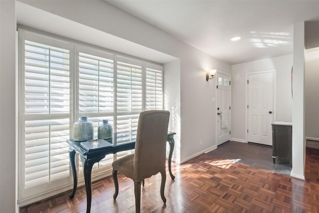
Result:
[[[216,147],[216,103],[211,101],[216,85],[214,80],[205,80],[204,70],[211,67],[228,73],[231,70],[230,65],[197,49],[187,49],[181,55],[180,66],[181,162]]]

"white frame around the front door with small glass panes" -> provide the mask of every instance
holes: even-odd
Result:
[[[219,69],[216,69],[216,73],[215,73],[215,141],[216,141],[216,147],[218,146],[217,145],[217,140],[218,140],[218,138],[217,138],[217,136],[218,136],[218,129],[217,129],[217,127],[218,127],[218,125],[217,125],[217,121],[218,121],[218,115],[217,115],[217,101],[218,101],[218,99],[217,99],[217,85],[218,85],[218,79],[217,79],[217,74],[218,73],[220,73],[220,74],[223,74],[223,75],[227,75],[227,76],[229,76],[229,82],[230,82],[230,88],[229,88],[229,106],[230,106],[230,112],[229,112],[229,131],[230,131],[230,134],[229,134],[229,140],[231,140],[231,74],[230,73],[227,73],[227,72],[223,72],[223,71],[221,71],[221,70],[219,70]]]

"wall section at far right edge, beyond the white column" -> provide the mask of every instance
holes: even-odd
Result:
[[[308,49],[306,52],[305,71],[305,136],[319,139],[319,48]]]

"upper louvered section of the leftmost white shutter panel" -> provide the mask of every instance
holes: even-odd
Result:
[[[69,50],[25,40],[25,114],[70,112]]]

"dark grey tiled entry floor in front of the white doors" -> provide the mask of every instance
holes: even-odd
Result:
[[[229,141],[207,154],[287,176],[290,176],[292,169],[289,163],[274,164],[272,147],[259,144]]]

